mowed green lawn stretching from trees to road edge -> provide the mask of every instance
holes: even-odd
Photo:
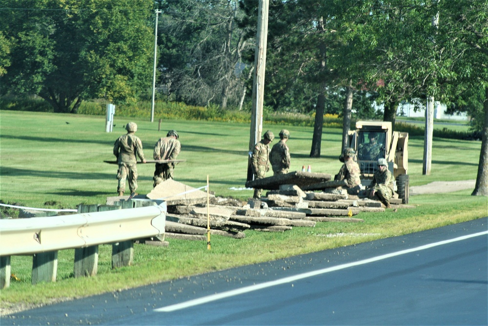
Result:
[[[0,199],[27,207],[70,208],[80,203],[103,204],[116,196],[117,165],[113,143],[126,131],[129,121],[138,124],[144,154],[152,159],[156,141],[167,130],[180,135],[182,152],[175,180],[201,187],[209,176],[210,191],[217,196],[246,200],[252,190],[243,190],[248,157],[247,124],[205,121],[163,121],[158,131],[155,122],[115,116],[113,132],[105,132],[104,116],[83,116],[36,112],[0,111]],[[341,166],[340,129],[324,129],[320,158],[310,158],[313,130],[308,127],[266,125],[275,135],[290,130],[288,146],[291,171],[311,165],[312,172],[336,174]],[[432,181],[472,180],[476,178],[481,142],[433,140],[431,174],[422,175],[422,137],[409,142],[410,185]],[[139,194],[152,190],[153,164],[140,164]],[[314,228],[295,227],[284,233],[246,231],[244,239],[212,236],[212,249],[206,241],[169,239],[166,248],[136,244],[133,266],[111,269],[111,247],[100,246],[98,275],[74,279],[74,250],[59,253],[56,283],[32,286],[32,259],[12,257],[9,288],[1,290],[1,307],[17,304],[45,304],[102,292],[176,279],[244,264],[270,261],[344,245],[382,239],[458,223],[488,215],[487,197],[470,196],[472,189],[442,195],[411,196],[412,209],[362,213],[364,223],[320,222]],[[0,245],[1,239],[0,239]]]

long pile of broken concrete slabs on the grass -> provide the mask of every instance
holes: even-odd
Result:
[[[207,223],[211,235],[242,239],[247,229],[284,232],[293,227],[314,227],[317,221],[363,222],[363,219],[355,216],[361,212],[385,211],[379,201],[347,195],[341,189],[344,182],[327,181],[330,179],[328,174],[324,177],[324,174],[309,173],[309,182],[304,182],[303,174],[298,174],[301,187],[296,184],[265,186],[261,183],[264,189],[270,188],[266,197],[249,199],[247,203],[212,194],[207,199],[206,190],[195,189],[172,179],[157,185],[146,196],[135,196],[133,200],[137,203],[135,206],[155,205],[164,201],[167,205],[165,238],[189,240],[205,240]],[[315,178],[318,178],[318,183],[313,182]],[[278,180],[279,183],[285,181],[290,181],[290,178]],[[126,199],[109,197],[107,204]],[[401,200],[393,199],[392,204],[398,206]]]

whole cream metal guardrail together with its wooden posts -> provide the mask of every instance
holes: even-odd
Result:
[[[73,215],[0,219],[0,288],[10,285],[11,256],[33,255],[32,284],[55,282],[59,250],[74,248],[74,276],[91,276],[97,273],[99,244],[112,243],[116,268],[132,263],[134,239],[164,239],[165,202],[120,204],[86,205]]]

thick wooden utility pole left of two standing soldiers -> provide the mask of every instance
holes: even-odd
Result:
[[[254,51],[254,77],[252,85],[251,130],[249,135],[249,156],[247,160],[247,181],[252,181],[251,155],[254,146],[261,140],[263,132],[264,72],[266,68],[266,43],[268,36],[269,0],[259,0],[258,31]]]

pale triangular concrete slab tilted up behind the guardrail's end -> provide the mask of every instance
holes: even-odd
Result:
[[[214,195],[209,195],[214,196]],[[166,205],[195,205],[206,203],[207,193],[187,186],[173,179],[168,179],[157,185],[149,194],[149,199],[162,199]]]

